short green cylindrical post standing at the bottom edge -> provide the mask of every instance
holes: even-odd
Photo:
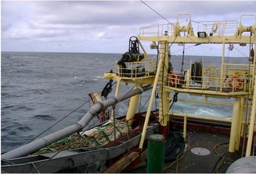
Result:
[[[163,135],[154,134],[148,138],[147,173],[163,173],[164,168],[164,142]]]

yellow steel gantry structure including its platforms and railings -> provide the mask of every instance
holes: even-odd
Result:
[[[179,16],[187,15],[189,16],[188,25],[180,26]],[[242,18],[246,15],[240,17],[240,21],[198,21],[197,32],[205,34],[200,36],[200,33],[195,34],[195,30],[191,24],[191,17],[189,14],[180,14],[177,16],[176,23],[168,24],[153,24],[145,26],[140,29],[139,35],[137,36],[139,40],[139,45],[142,48],[145,58],[140,61],[126,62],[127,67],[131,68],[131,74],[124,75],[122,68],[116,63],[116,71],[113,73],[106,72],[104,77],[107,79],[118,80],[118,87],[116,95],[119,91],[120,81],[132,84],[152,84],[153,90],[148,103],[147,114],[144,122],[142,137],[140,139],[139,148],[142,148],[145,132],[148,126],[149,116],[152,110],[153,100],[155,97],[155,92],[158,93],[158,103],[159,103],[159,122],[160,125],[166,126],[169,122],[169,115],[182,116],[184,117],[184,135],[186,135],[187,118],[199,118],[200,120],[213,120],[222,122],[231,122],[231,135],[229,140],[229,152],[234,152],[239,150],[241,137],[243,136],[245,124],[247,129],[246,136],[248,137],[248,143],[246,147],[246,156],[251,155],[251,145],[253,140],[253,132],[256,130],[255,127],[255,112],[256,112],[256,15],[249,15],[254,17],[254,23],[250,26],[244,26],[242,24]],[[248,16],[248,15],[247,15]],[[183,34],[184,33],[184,34]],[[249,34],[246,34],[249,33]],[[250,35],[251,34],[251,35]],[[154,44],[158,42],[158,62],[156,59],[151,59],[146,53],[142,43],[140,41],[151,41]],[[167,68],[169,64],[169,52],[171,52],[170,47],[172,44],[222,44],[222,60],[220,62],[220,68],[214,66],[209,66],[202,68],[201,85],[191,84],[191,61],[190,69],[187,70],[187,74],[179,78],[183,78],[186,83],[182,83],[182,80],[178,77],[173,78],[175,83],[170,81],[170,75]],[[251,60],[249,63],[228,63],[225,62],[225,48],[227,44],[252,44],[254,45],[254,57],[247,55]],[[156,46],[156,44],[155,44]],[[136,66],[142,65],[145,67],[145,75],[137,74]],[[235,68],[234,68],[235,67]],[[240,67],[240,68],[236,68]],[[135,72],[134,72],[135,70]],[[210,74],[212,70],[216,71],[216,74]],[[176,72],[180,74],[180,72]],[[233,77],[232,77],[233,76]],[[238,77],[234,77],[238,76]],[[227,80],[227,77],[229,80]],[[235,80],[239,78],[241,82],[236,81],[239,84],[235,87]],[[156,90],[156,87],[159,89]],[[202,104],[212,104],[212,105],[223,105],[233,107],[232,118],[224,119],[209,116],[198,116],[189,114],[173,113],[169,111],[169,103],[172,98],[170,98],[170,93],[183,93],[189,95],[199,95],[205,96],[205,100],[195,100],[195,99],[178,99],[178,102],[190,102],[190,103],[202,103]],[[223,103],[223,102],[210,102],[207,97],[215,98],[235,98],[233,103]],[[131,102],[127,112],[127,120],[129,124],[133,122],[136,106],[138,103],[138,96],[131,98]],[[248,113],[248,120],[245,120],[246,103],[250,100],[250,106]]]

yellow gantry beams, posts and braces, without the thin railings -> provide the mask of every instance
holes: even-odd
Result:
[[[153,26],[153,25],[152,25]],[[240,28],[241,29],[241,28]],[[235,150],[239,150],[240,145],[240,138],[243,136],[243,123],[245,121],[245,104],[246,100],[248,99],[248,91],[232,91],[231,93],[223,93],[222,87],[223,85],[220,85],[219,91],[210,91],[207,89],[190,89],[189,85],[186,85],[186,88],[175,88],[166,86],[165,82],[162,80],[162,77],[164,77],[165,81],[168,79],[167,69],[163,68],[168,67],[168,53],[169,53],[169,43],[216,43],[216,44],[222,44],[222,66],[220,69],[220,76],[223,78],[225,76],[225,44],[229,43],[247,43],[250,42],[254,44],[254,52],[256,50],[255,43],[256,43],[256,37],[255,34],[250,38],[250,36],[245,36],[241,34],[234,34],[234,35],[217,35],[217,36],[207,36],[206,38],[198,38],[194,34],[182,36],[182,35],[157,35],[157,36],[144,36],[144,35],[138,35],[139,40],[144,41],[155,41],[160,42],[160,49],[159,49],[159,57],[160,60],[158,61],[156,74],[155,76],[149,76],[149,77],[139,77],[137,79],[129,78],[129,77],[118,77],[117,74],[111,74],[111,73],[105,73],[105,78],[118,80],[118,83],[120,85],[120,81],[126,81],[128,83],[136,83],[136,81],[139,79],[139,86],[145,85],[145,84],[153,84],[153,90],[151,94],[151,98],[149,100],[148,108],[147,108],[147,114],[145,118],[145,123],[143,127],[142,137],[140,139],[139,148],[142,148],[144,140],[145,140],[145,133],[149,121],[149,116],[151,114],[153,100],[155,97],[155,91],[156,86],[160,85],[160,90],[158,90],[158,93],[160,94],[159,100],[159,121],[162,126],[166,126],[169,122],[169,115],[172,114],[173,116],[183,116],[184,119],[187,120],[187,117],[190,118],[199,118],[201,120],[214,120],[214,121],[223,121],[223,122],[231,122],[231,135],[229,140],[229,152],[234,152]],[[251,40],[250,40],[251,39]],[[139,42],[140,46],[143,48],[142,44]],[[143,51],[145,53],[145,58],[148,58],[147,53],[145,49],[143,48]],[[256,85],[254,85],[255,81],[255,62],[256,62],[256,54],[254,53],[254,61],[251,65],[252,71],[251,73],[251,80],[249,82],[249,96],[252,101],[252,111],[250,113],[250,123],[249,123],[249,133],[248,133],[248,144],[246,147],[246,156],[251,155],[251,144],[253,139],[253,131],[255,129],[255,111],[256,111]],[[246,66],[246,65],[245,65]],[[188,70],[187,76],[190,76],[190,71]],[[187,77],[188,78],[188,77]],[[188,79],[187,79],[188,81]],[[221,81],[221,83],[223,83]],[[119,91],[119,85],[116,91],[116,95]],[[163,90],[162,90],[163,89]],[[183,102],[195,102],[195,103],[208,103],[213,105],[232,105],[232,104],[224,104],[224,103],[218,103],[218,102],[208,102],[207,97],[217,97],[217,98],[230,98],[234,97],[234,103],[233,103],[233,116],[231,119],[226,120],[224,118],[216,118],[216,117],[208,117],[208,116],[197,116],[197,115],[188,115],[188,114],[180,114],[180,113],[170,113],[169,112],[169,101],[170,101],[170,92],[179,92],[179,93],[187,93],[187,94],[196,94],[196,95],[205,95],[206,100],[205,101],[199,101],[199,100],[188,100],[188,99],[180,99],[183,100]],[[131,98],[130,105],[127,112],[127,120],[129,120],[129,124],[132,123],[132,118],[134,117],[134,114],[136,112],[136,106],[138,103],[139,95]],[[184,130],[183,130],[184,136],[186,136],[186,121],[184,121]]]

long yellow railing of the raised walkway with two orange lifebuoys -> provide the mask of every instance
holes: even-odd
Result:
[[[168,74],[168,79],[165,81],[165,85],[173,88],[212,90],[223,93],[235,91],[246,92],[249,84],[250,82],[247,76],[229,76],[225,78],[207,76],[198,77],[190,76],[189,74],[182,75],[178,72]]]

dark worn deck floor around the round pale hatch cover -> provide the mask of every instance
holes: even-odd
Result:
[[[188,136],[192,131],[188,131]],[[229,135],[213,132],[196,131],[191,137],[189,150],[186,155],[178,162],[178,173],[213,173],[215,164],[219,160],[219,156],[214,152],[214,146],[223,142],[229,141]],[[192,148],[206,148],[210,151],[208,155],[196,155],[191,152]],[[223,144],[217,147],[217,152],[224,154],[228,150],[228,144]],[[228,154],[226,158],[234,161],[240,158],[240,155]],[[225,159],[226,159],[225,158]],[[164,167],[170,166],[173,161],[165,162]],[[225,173],[231,162],[223,162],[222,167],[218,170],[219,173]],[[133,173],[146,173],[146,166],[140,167],[137,170],[129,171]],[[164,170],[164,173],[176,173],[176,163],[170,168]]]

